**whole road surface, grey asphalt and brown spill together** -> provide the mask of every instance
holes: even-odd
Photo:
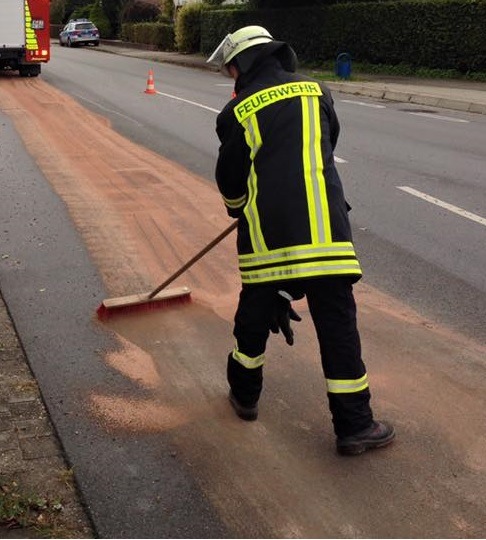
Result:
[[[213,74],[157,66],[162,95],[147,96],[149,65],[93,50],[54,48],[42,79],[73,92],[83,106],[106,115],[130,138],[147,141],[152,149],[158,146],[161,154],[211,178],[216,140],[208,133],[213,133],[216,111],[230,88],[217,86],[226,81]],[[98,89],[83,89],[82,82],[75,82],[79,74]],[[8,254],[1,260],[0,279],[98,534],[484,537],[481,328],[473,328],[479,336],[473,342],[440,325],[441,318],[422,318],[400,301],[409,290],[417,296],[410,293],[412,304],[433,310],[443,295],[447,301],[452,288],[460,301],[456,308],[473,321],[474,309],[484,303],[484,282],[474,273],[464,277],[461,261],[442,252],[467,236],[461,249],[474,263],[469,238],[477,242],[481,234],[473,225],[484,228],[465,216],[465,224],[449,224],[461,216],[396,188],[426,193],[420,171],[432,158],[435,168],[442,167],[443,156],[456,148],[457,163],[448,167],[467,172],[460,182],[444,182],[450,184],[445,195],[454,199],[439,191],[433,195],[484,216],[480,190],[472,197],[478,206],[465,205],[467,192],[481,182],[476,158],[459,150],[469,132],[450,137],[456,124],[475,126],[478,131],[470,135],[474,144],[484,133],[482,119],[456,113],[444,115],[446,120],[415,118],[400,111],[400,105],[381,109],[336,96],[343,123],[339,167],[354,207],[367,280],[389,285],[398,297],[382,296],[366,284],[359,287],[376,410],[396,425],[397,443],[358,460],[342,460],[333,452],[315,337],[305,310],[291,351],[279,339],[269,345],[272,361],[259,422],[242,425],[229,409],[224,353],[237,293],[229,271],[231,243],[187,276],[206,291],[205,301],[107,326],[94,320],[95,308],[108,293],[106,284],[120,286],[125,278],[147,284],[154,268],[166,271],[166,259],[184,258],[219,229],[220,201],[204,182],[171,168],[157,154],[133,148],[106,122],[41,82],[0,80],[0,215],[2,251]],[[82,115],[77,122],[75,113]],[[384,118],[377,116],[382,113]],[[355,117],[362,123],[353,128]],[[427,135],[425,126],[412,120],[427,120],[434,131]],[[365,130],[373,135],[364,137]],[[418,133],[423,133],[419,148],[412,144]],[[395,135],[401,136],[392,144]],[[433,142],[425,146],[429,139]],[[364,141],[370,147],[358,160]],[[441,146],[449,150],[441,154]],[[381,169],[385,156],[388,165]],[[395,171],[406,166],[409,175],[396,183]],[[464,176],[467,188],[461,190]],[[187,200],[190,194],[194,202]],[[137,239],[147,236],[143,250],[126,236],[118,211],[125,221],[135,221]],[[97,221],[98,214],[104,221]],[[408,233],[410,215],[412,232],[419,233]],[[386,221],[389,216],[401,226]],[[189,228],[194,221],[197,230]],[[446,232],[452,239],[441,236],[441,221],[449,224]],[[408,245],[407,236],[418,238]],[[178,253],[167,245],[177,246]],[[140,268],[145,262],[147,267]],[[422,289],[417,288],[418,275]],[[128,289],[131,285],[127,281]],[[476,308],[467,305],[467,291]],[[450,316],[460,328],[461,317]]]

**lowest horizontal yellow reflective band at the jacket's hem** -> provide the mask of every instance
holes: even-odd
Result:
[[[310,278],[319,276],[361,275],[357,260],[317,261],[310,263],[295,263],[274,268],[241,270],[242,283],[265,283],[282,279]]]

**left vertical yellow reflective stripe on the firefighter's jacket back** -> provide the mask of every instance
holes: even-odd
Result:
[[[258,194],[258,181],[255,171],[255,156],[262,146],[262,136],[258,127],[256,116],[252,116],[244,123],[246,143],[250,147],[251,167],[248,176],[248,202],[244,209],[246,220],[248,221],[248,229],[250,232],[250,240],[253,251],[262,252],[268,251],[263,238],[262,227],[260,224],[260,216],[256,204]]]

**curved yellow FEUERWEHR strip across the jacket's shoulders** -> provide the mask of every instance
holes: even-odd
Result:
[[[267,105],[298,96],[322,96],[322,90],[319,83],[313,81],[280,84],[252,94],[238,103],[233,112],[241,124]]]

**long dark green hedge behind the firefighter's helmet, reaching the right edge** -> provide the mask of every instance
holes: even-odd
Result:
[[[288,41],[304,62],[348,52],[372,64],[407,63],[462,72],[486,70],[486,0],[396,1],[319,8],[207,10],[201,49],[210,54],[228,33],[260,24]]]

